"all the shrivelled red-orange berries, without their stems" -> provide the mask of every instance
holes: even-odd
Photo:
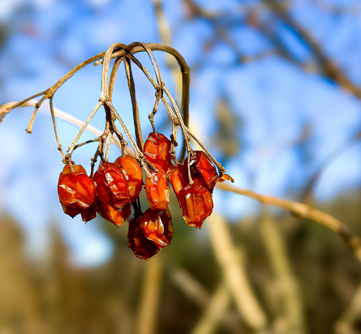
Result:
[[[71,172],[67,164],[60,173],[58,194],[64,212],[71,217],[81,214],[83,221],[95,218],[98,213],[116,226],[129,221],[128,246],[135,256],[149,259],[160,249],[168,246],[173,237],[172,217],[168,209],[169,185],[173,187],[183,218],[190,226],[201,228],[203,221],[212,213],[212,191],[218,175],[212,161],[203,151],[193,151],[190,158],[188,179],[188,157],[183,164],[176,160],[174,166],[170,155],[171,141],[156,132],[149,134],[144,143],[143,153],[147,160],[158,170],[149,171],[145,177],[145,194],[149,209],[140,211],[139,193],[143,186],[143,170],[139,162],[130,155],[119,157],[114,163],[103,162],[98,170],[89,177],[81,165],[73,165]]]

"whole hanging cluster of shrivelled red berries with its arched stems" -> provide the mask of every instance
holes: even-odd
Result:
[[[178,109],[177,103],[166,87],[159,66],[152,50],[160,50],[174,56],[182,71],[182,110]],[[156,74],[156,80],[148,70],[134,56],[134,53],[145,51],[152,62]],[[110,71],[110,61],[116,58]],[[94,62],[95,61],[95,62]],[[121,62],[124,62],[130,97],[132,101],[133,118],[136,139],[132,136],[122,117],[114,108],[112,94],[117,71]],[[94,65],[102,65],[101,94],[99,102],[83,123],[73,143],[69,146],[66,154],[63,152],[56,130],[55,111],[53,96],[78,70],[94,62]],[[135,96],[134,80],[131,64],[138,66],[145,77],[151,82],[156,90],[156,101],[149,114],[149,120],[153,132],[149,134],[143,146],[142,131],[140,128],[139,110]],[[110,73],[110,78],[109,78]],[[134,42],[129,45],[114,43],[106,52],[99,53],[81,64],[75,66],[68,74],[58,80],[46,91],[40,92],[18,103],[0,106],[0,123],[5,115],[13,108],[25,106],[31,99],[42,96],[35,104],[29,126],[26,131],[31,133],[32,125],[40,105],[49,99],[50,111],[53,118],[55,137],[58,150],[62,154],[65,164],[60,173],[58,182],[58,194],[64,212],[71,217],[81,214],[83,221],[87,222],[95,218],[96,213],[106,220],[119,226],[131,215],[131,206],[134,208],[134,218],[129,221],[128,246],[134,251],[135,256],[149,259],[161,248],[168,246],[173,237],[173,225],[168,210],[170,188],[167,176],[177,195],[179,206],[182,208],[183,217],[190,226],[201,228],[203,221],[212,213],[212,191],[217,181],[231,180],[226,170],[200,143],[196,136],[188,129],[188,103],[189,103],[189,67],[184,58],[177,50],[162,44]],[[166,97],[169,99],[166,99]],[[170,139],[157,133],[153,123],[153,117],[157,113],[158,104],[162,101],[172,122],[172,134]],[[99,137],[77,144],[83,131],[88,126],[97,110],[103,106],[105,111],[105,129]],[[115,121],[124,130],[134,150],[134,158],[125,154],[125,146],[128,144],[123,134],[118,130]],[[118,126],[119,126],[118,125]],[[178,127],[181,129],[184,146],[181,159],[185,152],[188,157],[184,164],[180,164],[175,155]],[[193,151],[190,139],[193,138],[203,151]],[[75,149],[85,144],[98,142],[98,148],[91,159],[91,174],[88,176],[81,165],[74,165],[71,154]],[[115,143],[122,150],[122,156],[114,163],[109,163],[109,148]],[[100,157],[100,165],[94,173],[95,162]],[[172,163],[174,161],[174,165]],[[216,172],[218,168],[219,177]],[[143,184],[143,171],[146,174]],[[144,213],[140,209],[139,193],[145,187],[149,209]]]

